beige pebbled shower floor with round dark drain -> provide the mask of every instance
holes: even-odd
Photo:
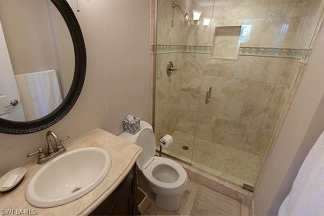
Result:
[[[178,131],[172,137],[174,143],[163,149],[164,153],[238,186],[244,183],[254,186],[260,170],[259,155],[200,138],[195,139],[193,146],[194,136]],[[184,150],[183,146],[189,149]]]

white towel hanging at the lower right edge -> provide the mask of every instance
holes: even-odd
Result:
[[[309,151],[278,215],[324,214],[324,132]]]

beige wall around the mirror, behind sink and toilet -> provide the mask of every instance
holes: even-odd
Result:
[[[121,120],[129,113],[149,119],[149,0],[79,1],[79,13],[76,2],[69,2],[87,48],[83,91],[72,110],[52,127],[28,135],[0,134],[0,176],[36,161],[35,157],[26,158],[26,154],[46,148],[45,134],[49,129],[60,138],[73,139],[94,127],[121,133]],[[117,12],[118,17],[129,19],[121,22],[107,15]]]

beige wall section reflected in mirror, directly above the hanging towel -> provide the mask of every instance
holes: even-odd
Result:
[[[0,19],[15,75],[57,69],[45,1],[0,1]]]

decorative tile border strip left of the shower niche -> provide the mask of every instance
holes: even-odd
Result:
[[[157,45],[156,53],[211,53],[211,46],[187,46],[187,45]],[[154,52],[154,45],[150,47],[151,53]]]

